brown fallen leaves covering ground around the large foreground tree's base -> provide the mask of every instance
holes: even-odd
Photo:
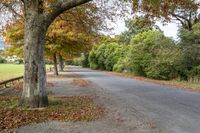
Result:
[[[17,98],[0,97],[0,131],[50,120],[92,121],[104,113],[91,96],[51,97],[50,106],[43,109],[18,108],[17,102]]]

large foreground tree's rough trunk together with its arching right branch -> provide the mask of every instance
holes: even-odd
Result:
[[[49,25],[64,11],[91,0],[62,0],[44,10],[44,0],[23,0],[25,12],[24,83],[19,104],[25,107],[48,106],[44,62],[45,35]],[[57,64],[57,63],[56,63]],[[56,65],[57,68],[57,65]]]

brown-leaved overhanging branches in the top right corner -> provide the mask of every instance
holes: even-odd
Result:
[[[164,21],[178,21],[184,28],[200,22],[199,0],[134,0],[134,10]]]

